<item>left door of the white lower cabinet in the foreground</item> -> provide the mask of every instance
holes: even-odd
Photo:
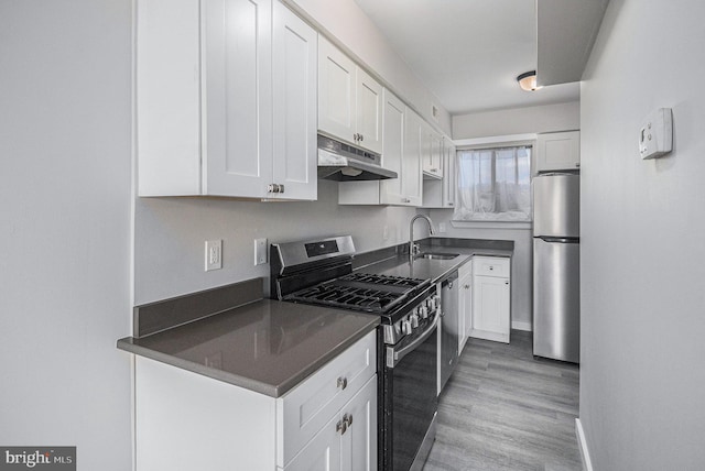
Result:
[[[339,471],[341,443],[340,432],[336,429],[339,420],[339,415],[334,416],[284,471]]]

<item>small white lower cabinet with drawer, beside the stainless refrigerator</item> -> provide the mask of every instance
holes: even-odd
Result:
[[[510,264],[498,256],[473,258],[470,337],[509,343]]]

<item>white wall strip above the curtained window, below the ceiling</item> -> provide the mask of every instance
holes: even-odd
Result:
[[[454,140],[575,129],[581,129],[579,101],[479,111],[453,117]]]

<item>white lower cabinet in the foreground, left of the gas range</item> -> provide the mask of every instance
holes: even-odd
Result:
[[[376,344],[281,397],[135,357],[137,471],[376,470]]]

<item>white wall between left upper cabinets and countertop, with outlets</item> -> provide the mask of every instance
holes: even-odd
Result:
[[[138,198],[135,304],[269,277],[269,264],[253,265],[256,238],[272,243],[351,234],[359,252],[409,241],[414,208],[338,206],[337,185],[318,180],[317,201]],[[416,231],[416,238],[427,236]],[[223,239],[223,270],[205,272],[204,242],[210,239]]]

